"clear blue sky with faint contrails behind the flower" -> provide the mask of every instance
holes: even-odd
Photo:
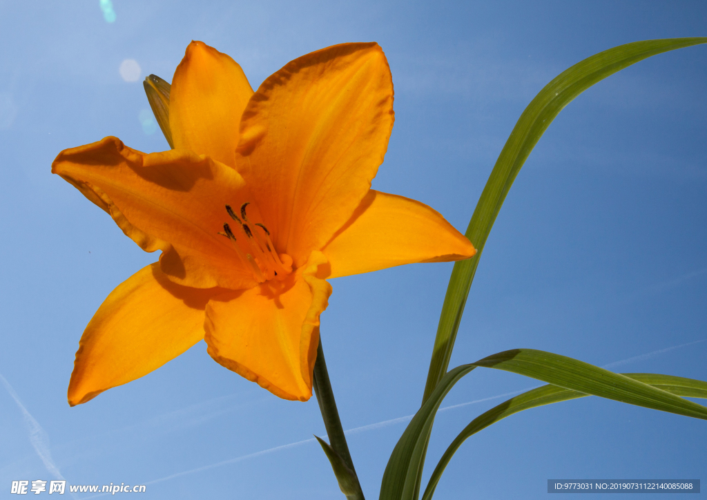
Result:
[[[707,21],[699,1],[112,7],[109,23],[98,0],[0,1],[0,498],[13,480],[56,475],[147,484],[149,499],[343,498],[311,440],[325,434],[315,400],[279,400],[214,363],[203,342],[86,405],[66,403],[86,323],[157,256],[50,164],[107,135],[167,149],[145,122],[140,81],[171,80],[190,40],[230,54],[254,88],[312,50],[377,41],[396,122],[373,187],[419,199],[464,231],[515,120],[545,83],[615,45],[705,35]],[[122,78],[125,59],[139,64],[138,81]],[[451,366],[530,347],[707,380],[706,134],[704,46],[631,66],[568,105],[498,216]],[[419,407],[450,271],[415,264],[332,281],[322,339],[344,429],[363,427],[349,446],[369,499],[400,418]],[[534,385],[482,370],[457,384],[443,406],[483,401],[439,415],[427,474],[464,425],[504,400],[488,398]],[[436,498],[544,498],[555,478],[707,479],[706,439],[705,421],[583,398],[469,439]]]

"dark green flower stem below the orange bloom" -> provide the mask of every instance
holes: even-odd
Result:
[[[354,473],[355,477],[356,469],[354,468],[354,460],[351,460],[349,446],[346,444],[346,436],[344,436],[344,429],[341,427],[341,420],[339,419],[337,402],[334,401],[334,392],[332,391],[332,383],[329,381],[329,372],[327,371],[327,361],[324,359],[321,337],[319,339],[319,346],[317,347],[317,361],[314,365],[314,380],[312,386],[317,395],[319,409],[322,412],[322,419],[324,419],[324,425],[327,429],[329,444],[334,451],[339,454],[346,467],[349,467],[351,472]],[[349,499],[364,500],[361,486],[357,484],[358,477],[356,477],[355,482],[358,491],[352,496],[347,494],[346,497]]]

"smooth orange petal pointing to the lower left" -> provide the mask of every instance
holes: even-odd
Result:
[[[133,274],[110,293],[81,336],[69,405],[140,378],[199,342],[206,303],[221,292],[174,284],[157,263]]]

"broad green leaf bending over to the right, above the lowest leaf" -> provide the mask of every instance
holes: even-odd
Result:
[[[636,378],[619,375],[583,361],[534,349],[513,349],[486,357],[476,363],[457,366],[450,370],[430,397],[423,403],[398,441],[388,460],[380,487],[381,500],[415,500],[419,491],[427,441],[435,414],[445,395],[457,380],[478,366],[510,371],[520,375],[551,383],[559,388],[577,391],[583,395],[595,395],[607,399],[647,408],[660,409],[687,417],[707,419],[707,407],[665,390],[655,388]],[[683,383],[684,392],[699,393],[703,386]],[[545,397],[547,403],[555,402],[559,392],[537,389],[537,397]],[[575,397],[580,397],[575,396]],[[519,410],[520,411],[520,410]]]

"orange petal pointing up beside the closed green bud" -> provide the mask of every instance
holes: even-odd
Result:
[[[240,115],[253,95],[243,69],[204,42],[187,46],[170,91],[170,129],[177,149],[235,166]]]

